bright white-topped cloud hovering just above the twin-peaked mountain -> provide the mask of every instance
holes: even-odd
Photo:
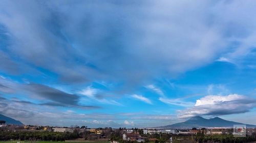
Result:
[[[244,113],[256,107],[256,99],[242,95],[227,96],[209,95],[197,100],[194,107],[178,110],[179,118],[190,118],[200,115],[230,115]]]

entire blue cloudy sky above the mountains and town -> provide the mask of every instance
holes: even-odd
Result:
[[[27,125],[256,124],[255,1],[0,3],[0,114]]]

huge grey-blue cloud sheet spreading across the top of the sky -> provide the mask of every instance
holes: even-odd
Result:
[[[0,68],[11,74],[17,71],[15,65],[23,63],[49,70],[70,84],[114,80],[134,87],[216,59],[245,56],[255,47],[251,5],[241,6],[238,1],[4,1],[0,29],[4,42],[11,44],[4,45],[8,50],[0,57],[7,62]],[[240,44],[230,51],[234,42]],[[13,60],[10,54],[19,58]],[[32,69],[22,72],[34,74]]]

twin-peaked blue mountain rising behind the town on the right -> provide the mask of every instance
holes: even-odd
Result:
[[[177,124],[167,125],[158,128],[179,128],[179,129],[188,129],[188,128],[203,128],[203,127],[233,127],[233,125],[246,125],[246,127],[256,127],[256,125],[243,124],[238,122],[232,122],[223,120],[219,117],[205,119],[200,116],[190,118],[189,120]]]

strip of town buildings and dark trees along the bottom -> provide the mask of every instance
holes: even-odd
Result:
[[[0,121],[0,140],[67,141],[67,142],[206,142],[223,138],[232,142],[255,141],[256,129],[247,128],[246,137],[234,138],[232,128],[88,128],[87,126],[50,127],[12,125]]]

